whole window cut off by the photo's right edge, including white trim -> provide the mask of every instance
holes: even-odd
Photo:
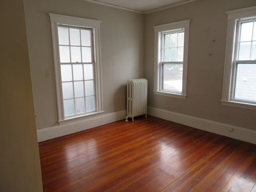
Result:
[[[222,104],[256,109],[256,7],[227,14]]]

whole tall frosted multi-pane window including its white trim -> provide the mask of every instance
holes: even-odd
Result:
[[[100,21],[50,14],[59,122],[102,112]]]

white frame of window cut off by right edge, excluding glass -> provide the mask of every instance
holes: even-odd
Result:
[[[228,30],[226,39],[226,53],[225,53],[225,65],[224,76],[222,86],[222,99],[221,103],[228,106],[236,106],[241,108],[256,109],[255,102],[249,102],[246,100],[235,99],[234,93],[234,73],[236,71],[236,64],[238,63],[236,58],[236,32],[237,20],[243,20],[256,16],[256,6],[249,8],[242,8],[238,10],[232,10],[226,12],[228,14]],[[255,61],[245,61],[242,63],[255,63]]]

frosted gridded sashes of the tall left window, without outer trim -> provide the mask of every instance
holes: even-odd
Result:
[[[65,118],[96,110],[92,33],[91,28],[58,24]]]

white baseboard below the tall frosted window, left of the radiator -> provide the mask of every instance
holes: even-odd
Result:
[[[108,124],[114,121],[125,119],[126,110],[104,114],[101,116],[88,118],[86,120],[54,126],[50,128],[37,130],[38,142],[49,140],[52,138],[72,134],[82,130],[90,129],[96,126]]]

